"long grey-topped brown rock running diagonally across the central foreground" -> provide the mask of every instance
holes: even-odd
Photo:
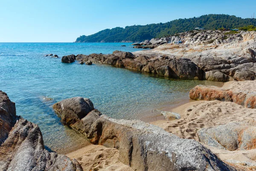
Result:
[[[116,120],[102,115],[98,110],[91,110],[87,115],[76,115],[87,106],[93,109],[90,102],[72,101],[71,98],[54,105],[59,115],[74,121],[70,127],[86,135],[93,144],[103,145],[119,150],[119,160],[138,171],[228,171],[230,166],[224,164],[209,149],[195,140],[181,139],[175,135],[142,121]],[[67,102],[77,102],[68,105]],[[61,108],[62,111],[61,112]],[[70,109],[67,109],[70,108]],[[83,108],[82,108],[83,109]],[[78,110],[78,111],[76,111]],[[84,116],[81,118],[81,116]],[[75,118],[75,119],[74,119]],[[157,159],[157,160],[156,160]]]

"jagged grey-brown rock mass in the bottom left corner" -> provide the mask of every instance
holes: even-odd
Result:
[[[15,103],[2,91],[0,130],[1,171],[82,171],[76,160],[44,149],[39,127],[16,116]]]

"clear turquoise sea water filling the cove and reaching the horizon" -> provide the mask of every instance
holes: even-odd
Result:
[[[0,43],[0,90],[16,103],[17,115],[40,126],[46,146],[67,152],[86,140],[61,123],[52,109],[57,101],[87,97],[110,117],[141,119],[154,115],[160,106],[187,98],[195,85],[212,84],[155,78],[103,64],[61,63],[64,55],[114,50],[137,49],[131,43]],[[48,53],[60,58],[44,57]]]

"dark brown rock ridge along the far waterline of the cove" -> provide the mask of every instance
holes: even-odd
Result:
[[[115,67],[125,67],[131,70],[153,73],[169,78],[195,79],[203,78],[203,71],[190,59],[175,59],[162,56],[159,59],[151,59],[147,56],[134,56],[130,52],[114,51],[113,54],[77,55],[77,60],[92,61],[94,63],[109,64]]]

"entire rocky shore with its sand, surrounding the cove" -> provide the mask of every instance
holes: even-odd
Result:
[[[45,149],[38,125],[17,116],[15,103],[0,91],[0,170],[256,170],[256,31],[226,33],[186,32],[163,39],[179,45],[154,40],[156,48],[134,53],[63,56],[63,63],[226,82],[194,87],[194,101],[166,110],[166,120],[152,123],[109,118],[89,98],[59,101],[53,109],[61,121],[90,142],[67,155]]]

